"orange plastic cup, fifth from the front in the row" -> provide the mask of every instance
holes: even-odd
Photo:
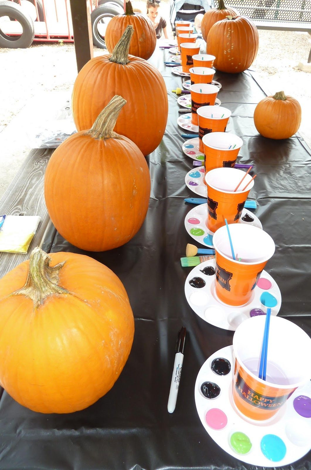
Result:
[[[210,132],[226,132],[230,116],[231,111],[222,106],[202,106],[197,110],[200,152],[204,153],[203,136]]]

